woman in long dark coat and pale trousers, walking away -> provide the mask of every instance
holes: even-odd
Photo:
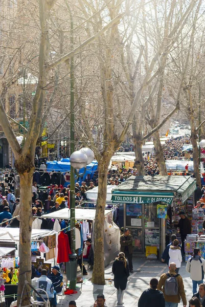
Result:
[[[112,265],[112,273],[114,274],[114,286],[117,289],[117,305],[122,305],[123,296],[127,287],[127,278],[129,277],[129,267],[125,254],[120,252]]]

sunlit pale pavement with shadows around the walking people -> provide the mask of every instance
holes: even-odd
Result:
[[[147,260],[146,258],[134,258],[133,259],[134,273],[130,274],[128,279],[127,289],[124,295],[124,306],[125,307],[136,307],[138,306],[138,300],[143,290],[149,288],[149,281],[152,277],[160,277],[162,273],[167,271],[167,265],[162,264],[160,261]],[[192,282],[189,274],[186,272],[186,264],[183,262],[182,267],[179,271],[180,275],[183,277],[187,300],[192,297]],[[105,269],[106,279],[113,278],[111,274],[111,265]],[[90,306],[96,300],[99,293],[103,293],[106,298],[106,304],[108,307],[114,307],[117,303],[116,289],[113,286],[113,282],[107,282],[105,286],[93,285],[89,278],[91,273],[88,271],[87,278],[84,283],[78,284],[78,293],[72,296],[66,295],[65,306],[68,306],[70,300],[75,300],[77,307]],[[183,306],[182,302],[178,305]]]

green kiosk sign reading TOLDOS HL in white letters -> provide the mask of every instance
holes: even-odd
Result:
[[[166,196],[134,196],[134,195],[112,195],[112,203],[127,203],[127,204],[149,204],[156,202],[164,202],[171,204],[173,197]]]

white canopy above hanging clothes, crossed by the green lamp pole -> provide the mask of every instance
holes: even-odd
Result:
[[[111,210],[106,209],[105,214],[109,213]],[[76,208],[75,219],[76,220],[95,220],[96,210],[94,208]],[[52,213],[44,214],[41,217],[47,218],[60,218],[62,220],[70,219],[70,209],[61,209]]]

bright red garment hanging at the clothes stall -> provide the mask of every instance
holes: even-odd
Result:
[[[69,254],[72,254],[69,245],[69,237],[61,231],[58,235],[58,257],[57,263],[69,262]]]

